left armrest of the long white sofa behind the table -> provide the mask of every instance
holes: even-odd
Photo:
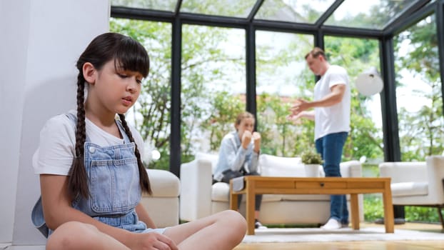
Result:
[[[195,159],[181,164],[180,217],[194,221],[211,215],[211,161]]]

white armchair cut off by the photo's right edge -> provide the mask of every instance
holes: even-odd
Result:
[[[428,156],[425,161],[383,162],[381,177],[391,178],[393,205],[434,206],[444,228],[444,156]]]

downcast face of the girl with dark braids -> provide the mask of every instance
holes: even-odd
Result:
[[[143,76],[138,72],[116,68],[114,60],[107,62],[100,71],[94,71],[92,81],[85,78],[89,82],[89,108],[125,114],[138,99]]]

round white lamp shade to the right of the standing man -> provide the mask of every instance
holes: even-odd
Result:
[[[375,67],[364,71],[356,79],[356,89],[364,96],[372,96],[383,90],[383,79],[380,78]]]

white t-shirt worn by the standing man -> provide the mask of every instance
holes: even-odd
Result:
[[[331,87],[345,84],[342,101],[333,106],[315,108],[315,140],[327,134],[350,131],[350,84],[347,71],[341,66],[331,65],[315,86],[315,100],[331,93]]]

